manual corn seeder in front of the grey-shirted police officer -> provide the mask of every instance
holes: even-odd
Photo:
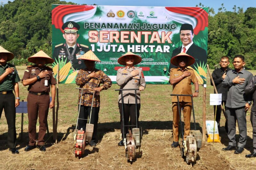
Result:
[[[124,90],[134,90],[135,91],[135,112],[136,112],[136,128],[132,128],[132,131],[129,130],[129,133],[126,134],[125,137],[125,127],[126,126],[134,126],[134,125],[125,125],[124,121],[124,97],[123,91]],[[140,152],[140,143],[142,138],[142,129],[140,130],[138,125],[138,111],[137,111],[137,90],[139,89],[116,89],[115,91],[121,91],[121,100],[122,100],[122,121],[123,121],[123,139],[124,139],[124,146],[125,146],[125,154],[127,160],[130,162],[134,161],[136,158],[136,150],[139,148]]]

